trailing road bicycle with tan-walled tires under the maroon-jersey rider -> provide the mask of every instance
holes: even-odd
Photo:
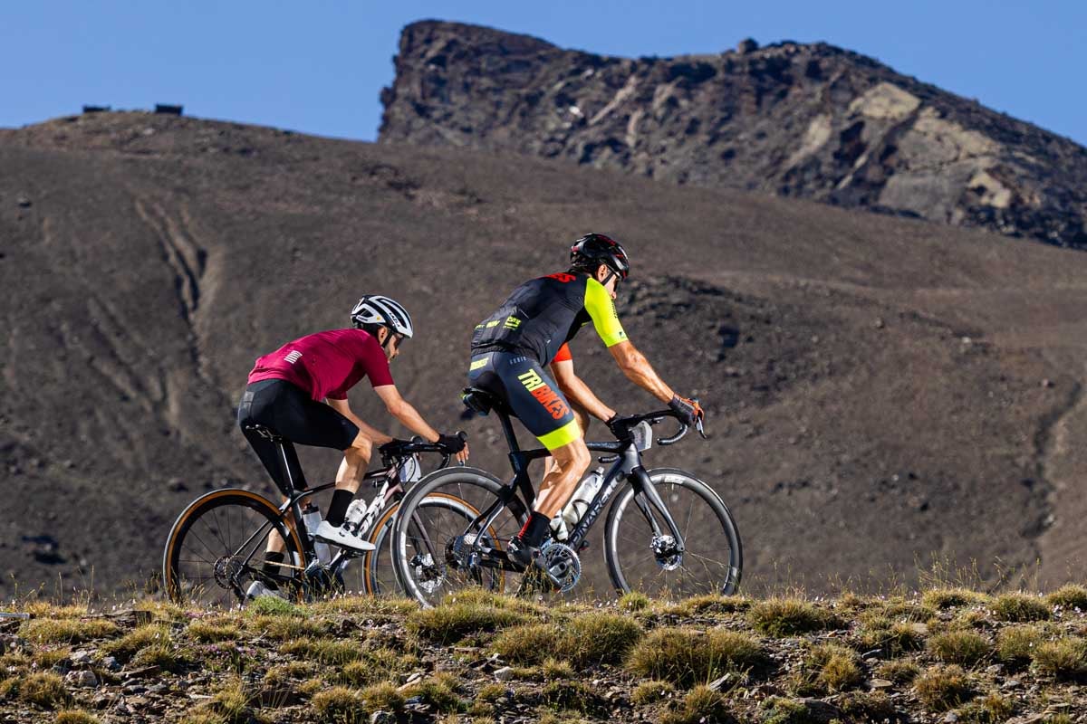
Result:
[[[222,488],[190,503],[177,517],[163,551],[162,576],[170,599],[223,608],[243,606],[258,582],[263,586],[257,590],[271,588],[295,600],[345,590],[397,590],[387,545],[392,521],[405,490],[420,478],[420,455],[441,454],[439,467],[445,468],[450,457],[445,448],[418,439],[393,441],[379,448],[383,467],[363,478],[377,488],[374,498],[368,504],[355,499],[348,509],[346,524],[374,544],[373,550],[357,552],[330,548],[309,532],[320,522],[320,513],[307,498],[335,483],[307,487],[293,446],[262,425],[252,425],[252,430],[277,447],[288,481],[288,490],[280,491],[285,500],[275,504],[252,491]],[[463,501],[443,495],[428,497],[417,509],[426,512],[432,507],[465,520],[477,515]],[[307,525],[311,517],[315,522]],[[273,534],[283,542],[282,562],[265,559]]]

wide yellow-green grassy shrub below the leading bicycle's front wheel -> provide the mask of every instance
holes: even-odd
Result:
[[[765,665],[759,643],[746,634],[712,628],[658,628],[645,636],[627,657],[626,666],[646,678],[689,687],[729,671]]]

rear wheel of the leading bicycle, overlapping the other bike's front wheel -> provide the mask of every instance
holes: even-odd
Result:
[[[512,509],[499,511],[486,530],[467,530],[471,520],[465,518],[465,508],[486,510],[501,488],[498,479],[476,468],[438,470],[412,487],[400,504],[392,528],[392,562],[408,596],[429,607],[465,588],[482,587],[497,594],[516,590],[520,575],[505,571],[489,557],[473,560],[468,556],[476,541],[485,548],[501,551],[527,518],[524,505],[514,498]],[[434,504],[439,496],[455,498],[465,508]]]

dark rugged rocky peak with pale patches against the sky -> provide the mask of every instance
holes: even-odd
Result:
[[[513,151],[1087,249],[1087,149],[825,43],[611,58],[420,22],[383,142]]]

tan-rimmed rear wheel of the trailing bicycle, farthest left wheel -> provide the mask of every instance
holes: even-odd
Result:
[[[261,574],[268,536],[286,543],[278,574]],[[238,488],[213,491],[182,511],[162,556],[166,595],[183,605],[230,608],[245,602],[253,581],[286,589],[300,573],[302,543],[271,500]]]

